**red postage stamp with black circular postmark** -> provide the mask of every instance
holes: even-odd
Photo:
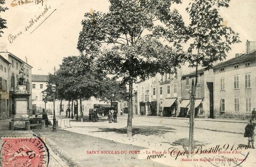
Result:
[[[43,139],[34,136],[2,138],[2,167],[48,167],[49,149]]]

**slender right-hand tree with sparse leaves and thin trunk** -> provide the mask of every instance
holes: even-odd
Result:
[[[192,43],[186,54],[180,57],[180,61],[189,62],[189,67],[196,68],[196,78],[191,95],[190,109],[190,146],[193,147],[194,134],[194,104],[197,88],[198,65],[206,69],[212,68],[212,63],[226,58],[230,45],[241,42],[238,33],[223,24],[223,18],[219,15],[221,7],[229,7],[230,0],[194,0],[186,8],[190,16],[190,25],[187,28],[188,36]]]

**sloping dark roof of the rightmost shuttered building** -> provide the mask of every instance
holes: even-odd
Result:
[[[237,57],[234,57],[230,60],[219,63],[216,66],[214,66],[213,69],[224,67],[224,66],[227,66],[227,65],[230,65],[230,64],[235,64],[235,63],[245,61],[245,60],[255,59],[255,58],[256,58],[256,50],[252,51],[251,53],[241,54],[240,56],[237,56]]]

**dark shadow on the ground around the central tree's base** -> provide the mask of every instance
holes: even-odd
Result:
[[[132,135],[163,135],[168,132],[175,133],[174,128],[168,128],[165,126],[133,126]],[[94,132],[116,132],[118,134],[126,134],[127,129],[125,128],[99,128],[99,131]]]

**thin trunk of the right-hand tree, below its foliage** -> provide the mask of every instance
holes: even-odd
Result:
[[[188,151],[191,155],[191,151],[193,148],[193,141],[194,141],[194,105],[195,105],[195,96],[194,96],[194,79],[192,79],[192,92],[190,97],[190,118],[189,118],[189,146]]]

